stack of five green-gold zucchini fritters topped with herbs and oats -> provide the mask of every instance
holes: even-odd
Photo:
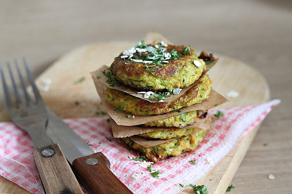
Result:
[[[107,88],[106,100],[116,108],[133,115],[158,115],[200,103],[211,92],[211,81],[207,74],[207,65],[214,60],[212,55],[202,52],[199,57],[190,46],[175,46],[158,42],[146,45],[144,41],[125,50],[110,66],[116,80],[131,88],[145,93],[149,102],[125,92]],[[171,93],[178,93],[189,87],[184,94],[172,102],[164,102]],[[149,92],[151,91],[151,92]],[[147,92],[147,93],[146,93]],[[207,111],[197,110],[174,115],[165,119],[143,124],[144,127],[165,128],[138,134],[148,139],[170,139],[168,142],[152,147],[143,147],[129,138],[122,138],[131,148],[139,151],[150,161],[158,161],[168,156],[178,156],[195,149],[205,137],[207,130],[193,125],[196,118],[204,119]]]

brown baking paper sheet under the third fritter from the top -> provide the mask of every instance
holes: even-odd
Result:
[[[181,128],[176,128],[176,127],[172,127],[172,128],[144,127],[141,125],[123,126],[123,125],[117,125],[113,119],[110,119],[110,124],[112,126],[113,136],[115,138],[129,137],[132,135],[137,135],[137,134],[151,132],[151,131],[171,130],[174,128],[181,129]],[[187,125],[183,129],[194,128],[194,127],[198,127],[200,129],[206,129],[206,130],[213,129],[211,117],[209,115],[207,115],[207,117],[205,119],[196,118],[193,125]]]

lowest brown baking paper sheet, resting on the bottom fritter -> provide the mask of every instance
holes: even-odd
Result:
[[[196,129],[196,131],[200,131],[201,129]],[[166,142],[169,142],[169,141],[172,141],[174,139],[179,139],[178,138],[171,138],[171,139],[147,139],[147,138],[144,138],[144,137],[140,137],[140,136],[137,136],[137,135],[133,135],[131,137],[128,137],[130,140],[134,141],[135,143],[139,144],[140,146],[144,146],[146,148],[149,148],[151,146],[157,146],[159,144],[162,144],[162,143],[166,143]]]

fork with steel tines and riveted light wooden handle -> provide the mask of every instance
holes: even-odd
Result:
[[[26,69],[26,74],[30,81],[30,85],[33,89],[34,97],[30,96],[27,92],[18,61],[15,59],[15,66],[24,94],[21,98],[19,90],[16,86],[11,66],[9,62],[6,63],[9,69],[9,74],[16,98],[15,107],[9,94],[9,89],[6,83],[2,65],[0,64],[2,84],[8,112],[12,121],[20,128],[26,130],[33,140],[35,147],[33,156],[46,194],[84,194],[61,148],[57,143],[53,144],[53,142],[47,136],[47,108],[38,89],[36,88],[33,76],[30,72],[30,69],[28,68],[25,58],[23,58],[23,63]]]

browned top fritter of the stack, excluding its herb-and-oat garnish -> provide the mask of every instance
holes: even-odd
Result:
[[[149,67],[151,70],[155,71],[153,72],[153,75],[148,72],[145,64],[141,62],[133,62],[130,59],[120,59],[120,57],[115,58],[115,61],[110,66],[110,70],[116,76],[116,79],[124,85],[128,85],[136,89],[152,91],[186,88],[198,80],[204,70],[206,70],[204,62],[202,62],[200,67],[196,67],[196,65],[194,65],[194,60],[201,59],[196,56],[193,49],[191,49],[191,55],[189,52],[185,53],[186,55],[183,55],[185,48],[183,45],[168,45],[168,47],[165,48],[165,52],[169,53],[172,49],[175,49],[181,54],[180,58],[177,60],[167,60],[169,63],[162,63],[165,65],[164,67],[159,65]],[[141,54],[141,56],[144,57],[146,57],[146,55],[147,54]],[[132,59],[134,59],[135,56],[141,57],[138,52],[134,53],[134,57]],[[145,58],[145,60],[147,59]]]

